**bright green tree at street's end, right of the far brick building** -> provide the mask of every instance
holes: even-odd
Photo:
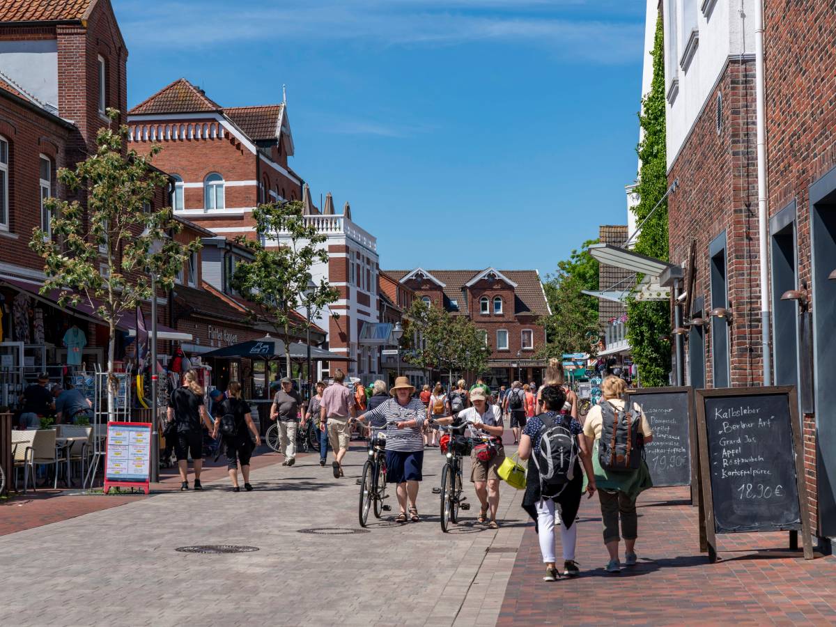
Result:
[[[568,259],[558,262],[558,271],[543,283],[552,314],[543,319],[548,344],[539,351],[541,359],[563,353],[588,353],[598,340],[598,298],[583,290],[598,289],[598,261],[587,250],[598,240],[584,242]]]

